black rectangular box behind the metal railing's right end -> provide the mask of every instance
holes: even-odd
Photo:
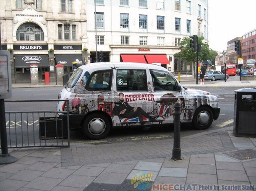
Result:
[[[39,117],[39,139],[68,138],[67,118]]]

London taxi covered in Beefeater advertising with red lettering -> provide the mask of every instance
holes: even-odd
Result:
[[[120,82],[122,79],[122,82]],[[91,63],[73,73],[58,99],[69,100],[70,128],[102,139],[111,127],[172,123],[173,104],[182,105],[181,122],[207,129],[219,117],[219,102],[209,92],[182,87],[159,64]],[[58,102],[57,111],[67,111]]]

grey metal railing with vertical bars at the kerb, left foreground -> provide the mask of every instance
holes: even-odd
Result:
[[[38,104],[68,100],[24,100],[6,101],[20,107],[24,102]],[[68,106],[69,104],[67,104]],[[35,107],[36,108],[36,107]],[[65,113],[65,115],[58,114]],[[69,147],[69,115],[60,111],[6,111],[8,148]]]

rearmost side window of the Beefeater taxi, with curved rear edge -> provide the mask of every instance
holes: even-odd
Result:
[[[95,71],[89,76],[85,89],[95,91],[110,91],[112,85],[112,70]]]

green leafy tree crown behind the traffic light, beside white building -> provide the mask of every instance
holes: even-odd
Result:
[[[181,59],[186,60],[188,62],[195,63],[196,62],[196,52],[193,52],[192,48],[190,48],[190,40],[191,38],[183,38],[180,42],[180,52],[175,53],[174,56],[181,57]],[[210,53],[209,44],[203,42],[204,37],[198,37],[198,43],[201,43],[201,52],[198,54],[199,61],[212,60],[213,54]],[[215,57],[214,57],[215,61]]]

